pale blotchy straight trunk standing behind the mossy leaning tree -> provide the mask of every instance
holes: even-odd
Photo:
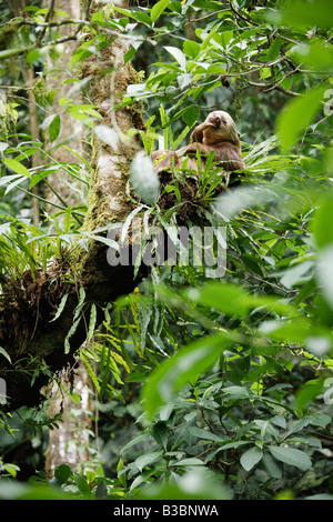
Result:
[[[50,0],[47,8],[50,9]],[[79,20],[81,16],[80,0],[56,0],[54,9],[64,11],[70,19]],[[71,33],[75,28],[73,26],[62,26],[59,28],[59,37],[65,37]],[[69,114],[62,109],[60,110],[59,100],[62,98],[70,98],[72,103],[83,103],[82,94],[79,89],[74,90],[74,99],[71,96],[73,84],[68,83],[67,80],[71,78],[70,59],[72,53],[79,47],[78,40],[71,40],[67,43],[64,52],[61,53],[57,60],[57,64],[52,64],[51,60],[48,61],[48,69],[51,71],[48,76],[48,90],[54,90],[56,96],[51,113],[60,114],[60,132],[53,142],[48,141],[46,149],[49,150],[53,160],[59,163],[69,164],[71,162],[78,163],[78,155],[71,152],[75,151],[79,157],[84,157],[83,140],[87,139],[87,127],[84,128],[81,121],[70,118]],[[67,148],[61,147],[67,144]],[[83,165],[81,165],[83,167]],[[83,169],[82,169],[83,171]],[[75,180],[70,180],[70,189],[67,185],[69,175],[65,170],[60,169],[54,174],[48,177],[49,187],[46,188],[46,199],[59,204],[64,201],[67,205],[75,207],[81,201],[78,200],[79,191],[75,188]],[[80,189],[80,187],[78,187]],[[58,194],[58,197],[56,195]],[[47,212],[52,213],[52,204],[47,207]],[[46,473],[47,478],[53,476],[54,470],[62,463],[69,464],[73,471],[78,471],[80,465],[83,465],[90,459],[90,434],[91,426],[91,401],[90,393],[92,389],[91,379],[89,378],[83,361],[78,359],[73,371],[61,371],[59,383],[53,382],[48,388],[49,396],[49,418],[52,419],[57,414],[62,413],[61,422],[58,423],[58,429],[49,430],[49,445],[46,452]],[[72,396],[75,396],[73,401]],[[79,415],[75,412],[80,412]]]

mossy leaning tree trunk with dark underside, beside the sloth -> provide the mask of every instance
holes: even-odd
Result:
[[[135,82],[131,64],[123,63],[127,50],[128,43],[120,34],[100,51],[98,63],[93,56],[87,59],[81,71],[84,77],[90,77],[91,102],[103,113],[105,124],[121,133],[117,152],[94,137],[89,210],[83,231],[124,222],[133,209],[127,197],[127,183],[138,142],[129,142],[124,137],[131,128],[143,129],[143,119],[137,106],[113,109],[127,86]],[[103,74],[102,71],[110,67],[114,72]],[[109,109],[112,111],[108,112]],[[40,389],[49,380],[41,364],[46,363],[54,372],[72,361],[73,353],[87,338],[92,303],[97,304],[98,319],[102,319],[102,307],[131,292],[143,277],[139,273],[134,280],[132,265],[110,267],[107,252],[108,247],[100,241],[90,240],[88,251],[78,243],[63,259],[56,260],[46,273],[39,271],[33,277],[28,271],[20,280],[4,282],[0,345],[10,355],[11,363],[1,358],[0,378],[7,383],[9,410],[38,404]],[[69,279],[74,284],[68,282]],[[69,339],[70,348],[65,350],[64,341],[73,324],[80,289],[84,289],[85,303],[81,320]],[[65,307],[52,321],[65,294]]]

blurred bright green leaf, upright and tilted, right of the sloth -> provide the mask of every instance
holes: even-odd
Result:
[[[324,88],[315,87],[287,102],[276,120],[276,134],[281,149],[287,153],[317,114]]]

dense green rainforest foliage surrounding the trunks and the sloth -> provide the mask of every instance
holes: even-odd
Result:
[[[212,110],[234,117],[246,177],[213,199],[213,170],[205,172],[193,203],[196,221],[192,214],[186,223],[223,227],[225,274],[210,278],[204,267],[185,263],[153,267],[133,294],[105,311],[94,335],[92,318],[90,343],[80,352],[99,425],[91,462],[77,472],[64,463],[50,488],[42,453],[59,419],[30,409],[3,414],[0,495],[332,499],[331,2],[140,3],[130,10],[107,3],[92,16],[93,37],[71,59],[72,81],[84,89],[84,78],[74,73],[103,48],[108,30],[121,30],[132,39],[125,59],[139,79],[123,103],[142,102],[147,154],[158,140],[179,148]],[[63,245],[80,234],[82,244],[87,240],[80,232],[83,195],[77,208],[58,199],[56,213],[31,223],[32,188],[46,188],[49,174],[64,167],[69,191],[84,194],[89,161],[84,172],[82,164],[59,165],[43,142],[60,131],[58,114],[48,112],[54,92],[48,90],[46,58],[56,67],[63,47],[57,24],[44,31],[47,9],[31,2],[26,13],[1,13],[0,269],[11,278],[47,269]],[[56,20],[60,24],[65,13]],[[30,135],[21,76],[32,66],[41,140]],[[68,118],[83,121],[88,135],[100,122],[97,109],[89,100],[59,103]],[[38,151],[43,163],[34,167],[30,159]],[[186,202],[176,181],[164,190],[174,192],[174,207],[138,203],[137,217],[174,224]],[[9,354],[0,348],[0,357]],[[6,482],[10,476],[30,476],[36,488]]]

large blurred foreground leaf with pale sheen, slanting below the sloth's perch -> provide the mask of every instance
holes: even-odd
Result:
[[[208,335],[181,348],[176,355],[153,370],[142,391],[148,415],[153,416],[161,405],[171,401],[184,384],[211,367],[233,342],[233,337],[225,333]]]

